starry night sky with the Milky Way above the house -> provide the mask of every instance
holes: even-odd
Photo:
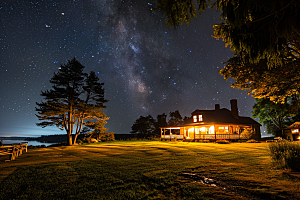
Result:
[[[130,133],[139,116],[230,109],[251,117],[254,98],[218,74],[233,56],[211,37],[219,12],[177,29],[153,0],[2,0],[0,136],[65,134],[41,128],[35,103],[61,64],[76,58],[104,82],[109,131]]]

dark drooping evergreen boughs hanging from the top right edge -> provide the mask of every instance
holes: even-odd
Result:
[[[223,38],[235,54],[248,54],[251,63],[267,59],[270,65],[281,64],[282,49],[299,50],[294,43],[300,37],[300,1],[198,0],[197,3],[199,14],[210,3],[212,10],[221,11],[223,22],[214,25],[214,37]],[[197,16],[192,0],[160,0],[157,7],[167,14],[167,25],[171,27],[188,24]]]

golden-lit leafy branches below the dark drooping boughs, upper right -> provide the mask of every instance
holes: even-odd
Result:
[[[226,80],[235,79],[232,87],[247,89],[248,94],[255,98],[269,98],[271,101],[284,103],[287,97],[295,98],[300,93],[300,60],[284,60],[282,66],[269,68],[267,60],[253,64],[239,54],[230,58],[219,74]]]

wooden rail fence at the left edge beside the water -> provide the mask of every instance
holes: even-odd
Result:
[[[9,155],[9,160],[15,160],[16,157],[22,155],[23,151],[27,152],[28,142],[22,142],[18,144],[4,144],[0,146],[0,156]]]

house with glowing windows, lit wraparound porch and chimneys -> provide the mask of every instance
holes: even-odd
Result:
[[[181,139],[198,140],[234,140],[243,139],[241,133],[251,128],[255,134],[253,139],[260,139],[260,126],[251,117],[239,116],[237,100],[230,100],[231,110],[215,105],[214,110],[195,110],[191,118],[183,125],[160,127],[161,140]]]

